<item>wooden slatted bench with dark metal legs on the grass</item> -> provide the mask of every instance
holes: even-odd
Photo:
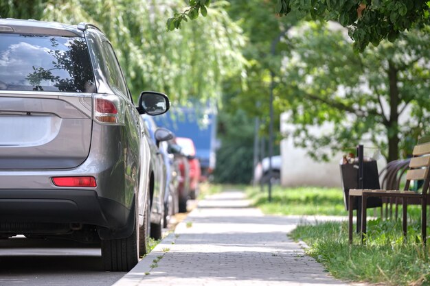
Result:
[[[403,235],[407,237],[407,200],[414,199],[421,202],[421,228],[422,241],[427,241],[427,191],[430,180],[430,142],[421,143],[414,147],[413,157],[409,162],[409,170],[406,174],[406,184],[403,191],[399,190],[370,190],[350,189],[348,195],[349,204],[352,205],[354,197],[361,197],[361,241],[365,243],[366,237],[366,211],[367,198],[402,198],[403,200]],[[421,192],[409,191],[411,180],[424,180]],[[349,241],[352,243],[352,207],[349,208]]]

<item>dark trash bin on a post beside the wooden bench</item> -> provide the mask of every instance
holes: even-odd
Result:
[[[360,189],[359,188],[359,163],[354,162],[352,164],[341,164],[341,180],[343,189],[343,203],[348,211],[348,195],[350,189]],[[379,185],[379,175],[378,175],[378,165],[376,165],[376,160],[370,160],[363,162],[363,189],[381,189]],[[354,210],[357,210],[358,198],[354,198]],[[367,208],[376,208],[382,206],[381,198],[368,198]]]

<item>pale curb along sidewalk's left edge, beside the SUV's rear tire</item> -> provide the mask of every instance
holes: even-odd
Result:
[[[149,252],[137,265],[130,270],[127,274],[122,276],[120,280],[115,282],[112,286],[136,286],[139,285],[140,282],[144,279],[148,273],[153,269],[151,265],[154,263],[154,260],[159,256],[164,256],[167,252],[163,251],[163,249],[170,248],[172,246],[172,242],[176,239],[174,233],[170,233],[167,237],[163,238],[160,243],[155,246],[155,248]]]

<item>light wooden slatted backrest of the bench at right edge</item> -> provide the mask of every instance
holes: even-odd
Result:
[[[427,194],[430,180],[430,142],[418,144],[414,147],[414,156],[409,163],[409,170],[406,173],[405,190],[409,189],[411,180],[424,180],[422,193]]]

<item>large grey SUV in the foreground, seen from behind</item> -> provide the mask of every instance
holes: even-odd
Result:
[[[0,19],[0,236],[101,241],[104,270],[147,252],[150,147],[109,40],[93,25]]]

